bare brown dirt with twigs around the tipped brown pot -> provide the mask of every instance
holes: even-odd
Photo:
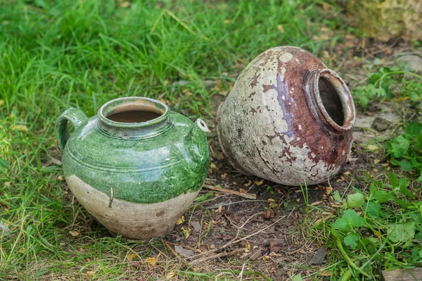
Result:
[[[322,51],[320,57],[329,68],[340,73],[353,90],[359,85],[366,85],[365,64],[378,58],[383,61],[383,65],[393,65],[397,54],[408,54],[410,50],[411,47],[400,40],[378,43],[347,35],[343,43],[337,44],[332,51]],[[241,69],[237,71],[240,73]],[[212,114],[215,115],[224,98],[224,94],[214,96]],[[354,129],[355,141],[350,161],[330,182],[307,187],[309,204],[318,206],[327,213],[335,211],[333,191],[343,194],[350,186],[366,188],[359,184],[359,177],[364,172],[369,172],[373,177],[382,176],[378,171],[385,168],[387,158],[383,154],[380,156],[368,151],[362,144],[373,137],[388,134],[390,130],[378,132],[373,129],[373,119],[386,115],[385,118],[392,120],[390,126],[395,126],[403,118],[409,120],[417,112],[417,108],[411,108],[407,104],[400,104],[395,110],[388,103],[371,105],[366,111],[362,111],[359,106],[356,108],[358,114]],[[306,275],[307,270],[298,266],[309,266],[309,261],[320,248],[324,248],[324,244],[318,239],[307,239],[303,233],[302,222],[306,212],[302,189],[276,185],[238,173],[224,159],[219,148],[215,121],[207,120],[207,124],[210,127],[212,159],[205,185],[219,186],[243,194],[256,194],[256,199],[203,188],[199,196],[210,197],[205,201],[197,201],[184,218],[179,220],[174,231],[162,238],[165,247],[153,249],[149,256],[164,258],[169,268],[196,273],[212,272],[219,275],[222,270],[235,270],[236,274],[219,275],[231,280],[242,277],[243,280],[248,280],[251,278],[248,276],[251,271],[262,273],[273,280],[288,280],[301,270]],[[377,157],[380,157],[379,161],[374,162]],[[316,214],[307,219],[316,221],[319,218],[321,217]],[[95,229],[98,223],[91,219],[87,227]],[[105,229],[102,234],[109,235]],[[328,251],[327,256],[329,254]],[[134,268],[151,271],[151,267],[145,263],[130,263]],[[325,266],[324,262],[312,265],[314,268]],[[160,276],[160,273],[156,273],[156,276]],[[255,278],[260,280],[261,277],[255,275]],[[136,277],[134,280],[142,279]]]

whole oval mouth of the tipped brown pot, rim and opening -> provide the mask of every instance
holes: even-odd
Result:
[[[340,76],[330,69],[323,69],[315,76],[316,104],[326,121],[338,131],[347,131],[354,124],[352,95]]]

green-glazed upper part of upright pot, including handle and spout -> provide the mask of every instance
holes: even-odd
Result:
[[[143,123],[106,118],[133,106],[140,110],[143,104],[162,115]],[[68,120],[75,126],[70,136]],[[141,97],[109,101],[92,118],[70,108],[56,125],[65,177],[76,175],[110,199],[141,204],[167,201],[202,187],[210,163],[206,132],[202,120],[193,123],[160,101]]]

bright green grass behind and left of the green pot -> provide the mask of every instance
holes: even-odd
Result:
[[[317,1],[3,1],[0,219],[11,232],[1,238],[0,279],[153,280],[179,268],[192,273],[180,275],[186,280],[222,278],[179,263],[139,263],[165,249],[161,239],[103,237],[65,188],[55,120],[70,106],[91,116],[110,99],[135,95],[212,118],[213,95],[265,49],[289,44],[318,54],[333,46],[341,32],[312,40],[340,24],[321,11]]]

